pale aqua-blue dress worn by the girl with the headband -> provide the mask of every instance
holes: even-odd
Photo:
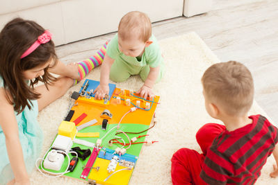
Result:
[[[0,76],[0,88],[3,87],[3,79]],[[22,145],[24,162],[27,172],[30,174],[35,167],[35,160],[40,157],[43,144],[43,132],[37,121],[38,101],[31,100],[33,107],[24,111],[15,117],[17,119],[19,140]],[[6,148],[6,139],[0,126],[0,184],[6,184],[14,179],[13,170],[10,166]]]

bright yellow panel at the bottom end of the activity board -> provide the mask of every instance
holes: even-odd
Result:
[[[92,168],[92,170],[90,171],[90,175],[88,176],[88,179],[95,180],[97,182],[97,184],[104,184],[104,185],[129,184],[129,179],[131,177],[133,169],[132,170],[122,170],[118,173],[115,173],[106,182],[104,182],[104,179],[106,179],[106,177],[108,177],[115,171],[120,170],[122,168],[126,168],[124,166],[119,166],[119,164],[117,164],[115,171],[108,173],[107,167],[108,167],[109,163],[110,163],[109,160],[101,159],[101,158],[97,157],[93,167],[99,166],[100,167],[99,171],[95,170],[95,168]]]

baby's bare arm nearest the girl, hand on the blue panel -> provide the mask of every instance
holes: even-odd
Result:
[[[114,61],[115,60],[108,55],[104,56],[104,62],[102,62],[100,69],[101,72],[99,86],[94,91],[95,98],[97,99],[102,99],[106,94],[109,94],[109,74]]]

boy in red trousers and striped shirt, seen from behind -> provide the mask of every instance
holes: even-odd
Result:
[[[174,153],[173,184],[254,184],[271,153],[278,164],[278,135],[265,117],[247,116],[254,96],[250,71],[234,61],[213,64],[202,85],[206,111],[224,125],[208,123],[199,129],[202,155],[188,148]],[[275,168],[270,176],[277,175]]]

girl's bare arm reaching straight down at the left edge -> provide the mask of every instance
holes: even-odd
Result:
[[[10,160],[10,166],[15,175],[15,182],[29,184],[29,177],[24,164],[22,146],[19,141],[18,126],[13,105],[8,103],[3,88],[0,88],[0,105],[0,126],[6,137],[6,148]]]

